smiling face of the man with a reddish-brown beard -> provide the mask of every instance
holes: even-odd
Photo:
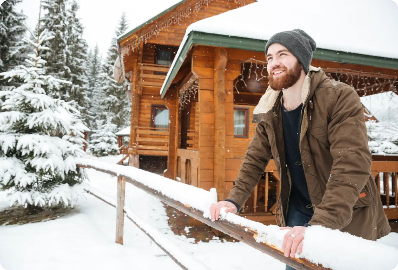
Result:
[[[281,91],[293,86],[304,70],[297,58],[285,46],[274,43],[268,47],[267,71],[269,86]]]

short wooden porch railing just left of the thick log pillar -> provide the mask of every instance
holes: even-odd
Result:
[[[177,177],[181,183],[198,184],[199,151],[177,149]]]

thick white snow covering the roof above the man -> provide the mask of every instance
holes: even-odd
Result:
[[[398,59],[397,11],[396,0],[263,0],[192,23],[186,34],[268,40],[280,31],[300,28],[318,48]]]

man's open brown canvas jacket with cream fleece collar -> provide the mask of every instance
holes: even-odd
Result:
[[[285,226],[291,180],[285,162],[281,92],[268,88],[254,110],[256,132],[228,199],[242,206],[273,158],[281,181],[277,224]],[[371,152],[355,90],[310,67],[302,88],[300,152],[314,215],[310,225],[369,240],[391,228],[371,174]],[[308,104],[312,103],[313,106]]]

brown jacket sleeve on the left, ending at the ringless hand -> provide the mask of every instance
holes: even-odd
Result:
[[[260,122],[256,125],[255,134],[246,151],[238,177],[227,198],[236,202],[239,205],[238,209],[242,208],[243,203],[248,200],[250,193],[258,184],[271,156],[271,147],[264,123]]]

